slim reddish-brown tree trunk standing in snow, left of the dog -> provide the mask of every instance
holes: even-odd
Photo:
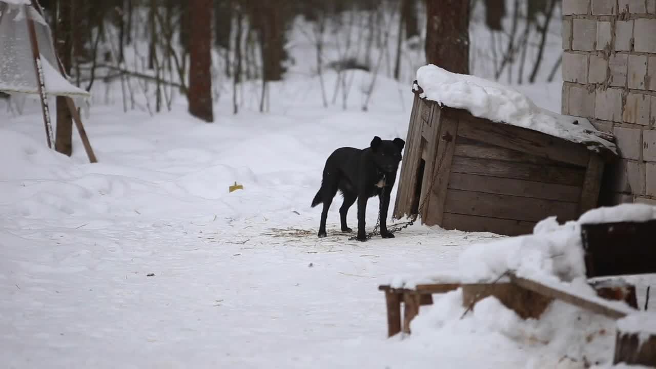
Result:
[[[189,112],[208,123],[214,121],[212,112],[212,0],[189,1]]]

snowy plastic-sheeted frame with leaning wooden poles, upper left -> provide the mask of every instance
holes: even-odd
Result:
[[[73,102],[75,97],[90,95],[69,83],[65,76],[39,4],[35,0],[0,0],[0,91],[39,97],[46,138],[51,148],[54,137],[48,98],[65,97],[89,161],[96,162]]]

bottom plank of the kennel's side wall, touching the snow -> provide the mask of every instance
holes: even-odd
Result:
[[[535,222],[444,213],[441,227],[464,232],[492,232],[504,234],[505,236],[519,236],[520,234],[531,234]]]

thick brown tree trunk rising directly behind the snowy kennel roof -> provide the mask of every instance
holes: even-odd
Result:
[[[426,0],[426,61],[469,73],[469,1]]]

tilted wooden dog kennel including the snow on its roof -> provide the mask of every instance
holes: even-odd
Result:
[[[539,108],[521,93],[423,66],[413,84],[397,219],[506,235],[598,204],[614,138],[586,119]]]

